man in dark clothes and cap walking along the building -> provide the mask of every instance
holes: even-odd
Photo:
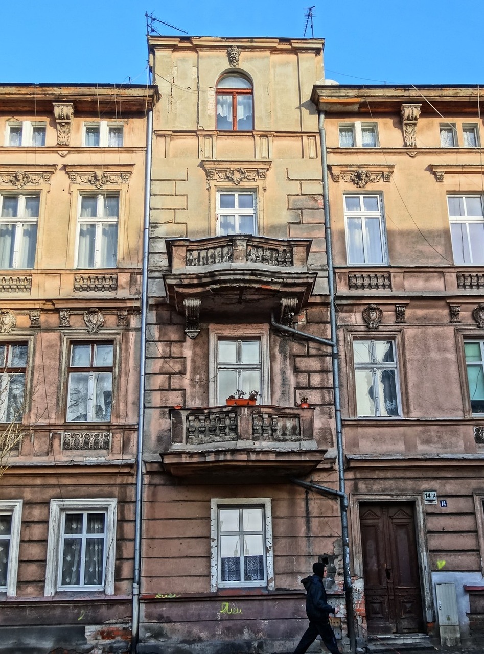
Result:
[[[340,654],[329,621],[330,613],[336,613],[339,609],[335,609],[328,604],[328,596],[326,596],[326,589],[322,583],[324,563],[313,564],[313,572],[313,575],[306,577],[301,582],[307,593],[306,613],[309,618],[309,627],[303,634],[300,644],[294,650],[294,654],[304,654],[309,645],[316,640],[318,634],[320,634],[322,642],[331,654]]]

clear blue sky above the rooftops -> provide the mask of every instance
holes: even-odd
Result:
[[[300,38],[311,4],[340,84],[484,85],[483,0],[3,0],[0,83],[145,84],[146,11],[190,35]]]

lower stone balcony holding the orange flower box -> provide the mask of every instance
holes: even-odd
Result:
[[[327,451],[315,442],[313,413],[261,405],[171,409],[164,468],[175,476],[307,474]],[[329,442],[329,424],[327,432]]]

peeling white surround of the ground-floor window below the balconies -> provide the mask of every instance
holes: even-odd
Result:
[[[264,579],[264,581],[257,582],[220,582],[218,580],[220,568],[218,564],[218,508],[222,506],[245,508],[247,506],[254,506],[257,504],[264,508],[264,528],[266,532],[266,579]],[[271,498],[212,498],[210,503],[210,535],[210,589],[212,593],[215,593],[218,588],[267,587],[269,591],[273,591],[275,589]]]

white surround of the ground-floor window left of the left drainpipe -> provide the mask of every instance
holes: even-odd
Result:
[[[50,515],[47,541],[47,562],[44,595],[51,597],[56,593],[73,591],[104,591],[114,594],[114,564],[116,562],[116,511],[118,500],[114,498],[50,500]],[[61,586],[61,541],[63,540],[63,514],[69,512],[90,513],[105,511],[105,578],[101,587]]]

